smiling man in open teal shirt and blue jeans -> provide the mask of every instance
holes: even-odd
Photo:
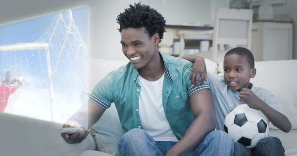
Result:
[[[124,135],[119,156],[232,156],[233,141],[214,130],[216,114],[208,82],[195,87],[193,64],[161,54],[165,20],[148,5],[130,5],[117,17],[126,66],[110,72],[93,89],[88,127],[114,103]],[[204,85],[202,85],[204,84]],[[62,135],[80,143],[88,130]]]

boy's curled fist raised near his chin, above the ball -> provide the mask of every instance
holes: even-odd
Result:
[[[243,88],[242,91],[239,92],[240,101],[245,102],[250,106],[257,107],[255,100],[258,98],[250,89]]]

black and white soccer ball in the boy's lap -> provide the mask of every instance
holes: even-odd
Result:
[[[257,108],[242,104],[226,116],[224,130],[233,140],[252,149],[268,136],[268,123],[268,118]]]

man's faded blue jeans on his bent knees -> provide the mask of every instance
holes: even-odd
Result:
[[[118,156],[165,156],[177,142],[154,141],[143,129],[125,133],[118,142]],[[232,156],[234,144],[225,132],[210,132],[195,150],[186,156]]]

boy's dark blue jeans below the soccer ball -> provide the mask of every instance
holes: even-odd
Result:
[[[233,156],[285,156],[285,149],[279,138],[271,136],[261,139],[257,146],[250,150],[235,142]]]

